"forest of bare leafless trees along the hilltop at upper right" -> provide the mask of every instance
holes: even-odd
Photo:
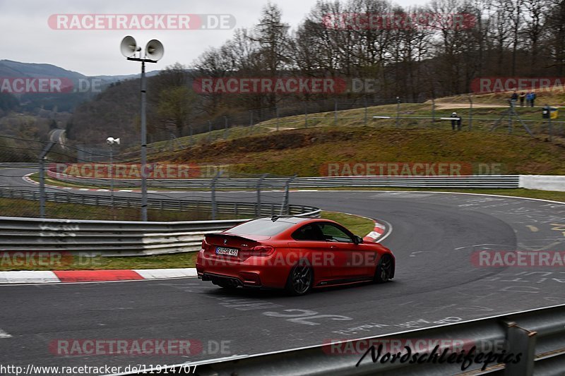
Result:
[[[468,14],[474,20],[463,27],[449,20],[424,28],[328,27],[324,19],[336,14]],[[379,83],[379,97],[415,101],[470,92],[478,77],[565,73],[563,0],[431,0],[408,8],[383,0],[319,1],[292,30],[283,16],[278,6],[266,5],[253,28],[235,30],[191,68],[215,78],[371,78]],[[205,109],[215,114],[230,107],[273,107],[280,100],[210,95]]]

